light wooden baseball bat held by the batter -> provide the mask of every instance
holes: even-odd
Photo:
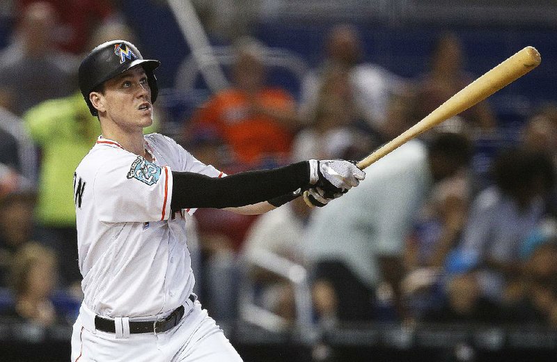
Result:
[[[462,90],[446,100],[446,102],[437,107],[437,109],[434,109],[434,111],[425,116],[425,118],[388,143],[382,145],[382,147],[375,150],[375,152],[372,152],[366,158],[358,162],[356,166],[363,170],[419,134],[422,134],[428,129],[439,125],[439,123],[448,120],[448,118],[456,116],[458,113],[466,111],[466,109],[485,100],[489,95],[492,95],[496,91],[512,83],[512,81],[519,79],[524,74],[533,70],[540,65],[541,61],[542,57],[534,47],[525,47],[521,49],[519,52],[503,61],[503,63],[497,65],[468,86],[462,88]],[[304,193],[304,200],[306,200],[308,205],[311,205],[307,199],[307,191]]]

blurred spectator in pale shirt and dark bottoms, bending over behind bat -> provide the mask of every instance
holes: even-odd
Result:
[[[361,191],[315,210],[304,252],[313,265],[314,292],[334,292],[333,299],[324,300],[337,300],[342,306],[336,308],[339,320],[386,317],[382,315],[386,311],[380,315],[372,310],[377,296],[393,299],[394,312],[405,317],[400,280],[411,220],[432,183],[465,166],[467,158],[462,155],[468,152],[458,134],[438,134],[429,151],[422,141],[411,140],[367,169]]]

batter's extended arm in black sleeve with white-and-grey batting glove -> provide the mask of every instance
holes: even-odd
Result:
[[[356,186],[365,173],[344,160],[313,159],[272,170],[236,173],[226,178],[177,171],[172,172],[172,177],[171,208],[178,210],[255,205],[312,187],[319,187],[334,198]]]

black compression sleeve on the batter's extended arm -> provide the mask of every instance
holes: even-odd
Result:
[[[303,189],[309,184],[309,162],[281,168],[247,171],[210,178],[199,173],[172,171],[172,210],[194,207],[251,205]]]

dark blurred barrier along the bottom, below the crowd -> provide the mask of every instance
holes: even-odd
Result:
[[[71,333],[71,326],[45,328],[0,320],[1,361],[69,361]],[[351,362],[549,362],[557,355],[556,329],[539,325],[345,326],[325,331],[317,343],[291,329],[268,331],[246,322],[230,325],[225,333],[244,361],[251,362],[325,361],[312,353],[324,346],[335,354],[333,361]]]

